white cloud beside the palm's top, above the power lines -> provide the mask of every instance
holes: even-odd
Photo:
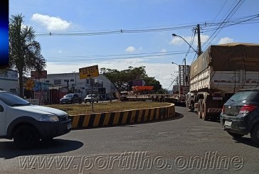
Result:
[[[72,25],[72,23],[69,23],[68,21],[65,21],[59,17],[42,15],[39,13],[33,14],[31,20],[40,23],[42,26],[45,26],[48,31],[65,31]]]

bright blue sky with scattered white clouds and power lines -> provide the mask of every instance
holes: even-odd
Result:
[[[22,13],[23,24],[34,28],[48,74],[144,66],[171,90],[177,65],[197,58],[197,24],[202,51],[258,43],[258,6],[255,0],[9,0],[9,17]]]

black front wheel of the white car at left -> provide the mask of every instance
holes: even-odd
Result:
[[[14,131],[14,143],[18,148],[34,148],[39,141],[38,131],[33,126],[18,126]]]

